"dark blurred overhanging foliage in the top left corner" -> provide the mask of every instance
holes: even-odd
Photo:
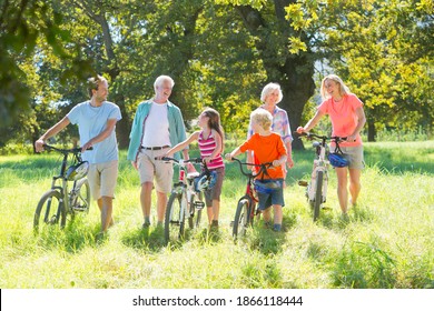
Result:
[[[26,120],[26,113],[31,113],[31,81],[28,81],[23,66],[34,54],[38,40],[43,39],[57,57],[77,64],[62,73],[63,81],[73,74],[89,72],[87,61],[73,58],[63,48],[67,42],[73,43],[60,29],[62,16],[57,8],[56,1],[38,0],[4,0],[0,6],[1,131],[8,131],[9,126],[17,126],[20,120]],[[3,138],[0,143],[6,143]]]

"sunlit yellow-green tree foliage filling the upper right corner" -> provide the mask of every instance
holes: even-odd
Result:
[[[298,1],[289,21],[317,32],[316,49],[365,103],[377,128],[433,126],[431,1]]]

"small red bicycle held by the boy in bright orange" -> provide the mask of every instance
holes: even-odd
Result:
[[[245,163],[241,162],[237,158],[233,158],[231,160],[236,161],[239,164],[239,169],[241,173],[247,177],[246,192],[238,200],[237,209],[235,212],[235,218],[233,222],[233,238],[236,240],[238,235],[245,235],[247,228],[254,224],[254,219],[256,215],[260,214],[260,210],[258,209],[258,199],[256,195],[255,189],[255,178],[262,173],[266,173],[267,169],[273,167],[273,162],[266,162],[262,164],[254,163]],[[254,165],[259,167],[259,170],[254,172],[246,172],[243,169],[243,165]]]

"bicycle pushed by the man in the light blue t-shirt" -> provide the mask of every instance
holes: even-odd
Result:
[[[76,213],[87,213],[90,207],[90,188],[86,178],[89,163],[81,160],[81,148],[59,149],[49,144],[43,148],[61,153],[63,159],[60,173],[52,177],[51,189],[43,193],[38,202],[33,217],[34,231],[39,230],[40,222],[65,228],[67,217],[72,221]],[[68,161],[70,156],[72,159]],[[70,182],[72,188],[69,191]]]

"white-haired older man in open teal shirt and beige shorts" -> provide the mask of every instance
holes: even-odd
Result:
[[[144,228],[150,224],[150,205],[154,181],[157,191],[157,219],[162,224],[167,194],[171,191],[174,168],[171,163],[155,160],[167,149],[186,140],[183,114],[178,107],[169,101],[174,80],[160,76],[154,83],[156,96],[141,102],[132,122],[128,160],[138,170],[141,183],[140,203],[144,213]],[[183,150],[188,159],[188,150]],[[179,158],[179,154],[176,154]]]

